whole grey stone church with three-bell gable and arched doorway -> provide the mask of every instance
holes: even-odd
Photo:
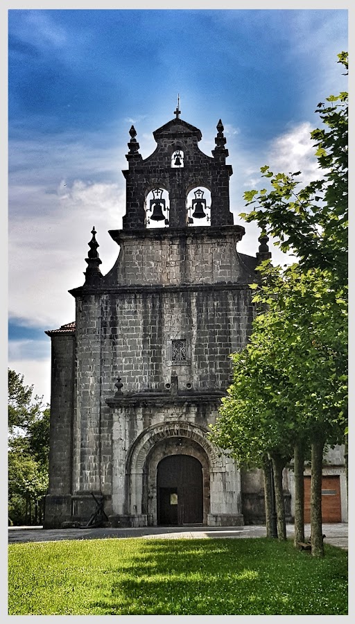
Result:
[[[95,229],[76,322],[52,340],[50,487],[45,526],[243,524],[241,475],[207,437],[248,341],[257,258],[239,254],[223,124],[209,157],[175,118],[143,159],[130,129],[123,229],[100,271]]]

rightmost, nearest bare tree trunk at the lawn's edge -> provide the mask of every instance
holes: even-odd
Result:
[[[322,531],[322,437],[311,444],[311,547],[313,557],[324,557]]]

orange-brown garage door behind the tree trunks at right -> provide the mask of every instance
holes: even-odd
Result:
[[[304,522],[311,522],[311,477],[304,477]],[[340,478],[322,478],[322,522],[341,522]]]

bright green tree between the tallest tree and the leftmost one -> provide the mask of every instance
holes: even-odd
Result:
[[[340,294],[340,290],[331,288],[332,276],[325,270],[314,269],[304,273],[293,265],[282,275],[277,269],[265,267],[264,271],[269,283],[260,288],[260,300],[268,300],[269,315],[276,313],[282,320],[275,324],[273,333],[277,336],[274,335],[273,340],[282,340],[279,365],[284,366],[291,382],[284,399],[290,401],[290,411],[294,404],[297,428],[302,437],[306,434],[306,440],[311,443],[311,512],[315,514],[311,523],[315,535],[318,528],[321,543],[323,449],[326,443],[342,444],[347,429],[347,299]],[[277,276],[277,279],[270,280],[270,275]],[[259,300],[259,297],[256,298]],[[279,396],[282,397],[282,393]],[[295,473],[300,469],[300,482],[296,478],[295,483],[301,491],[303,469],[298,462],[302,455],[298,458],[298,453],[303,445],[302,442],[295,447]],[[301,501],[298,504],[301,509]],[[297,530],[295,533],[297,535]]]

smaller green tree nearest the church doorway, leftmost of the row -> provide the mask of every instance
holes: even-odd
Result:
[[[211,426],[210,438],[214,444],[227,449],[239,467],[263,469],[269,537],[272,535],[271,460],[275,480],[277,535],[279,539],[286,539],[282,471],[292,457],[293,431],[287,426],[284,406],[280,403],[276,405],[271,397],[271,384],[275,383],[275,378],[277,388],[286,383],[286,379],[282,370],[277,369],[272,361],[273,345],[267,345],[266,342],[266,336],[261,333],[257,336],[255,331],[248,347],[241,353],[233,354],[234,381],[228,389],[228,396],[222,399],[220,416],[216,424]]]

